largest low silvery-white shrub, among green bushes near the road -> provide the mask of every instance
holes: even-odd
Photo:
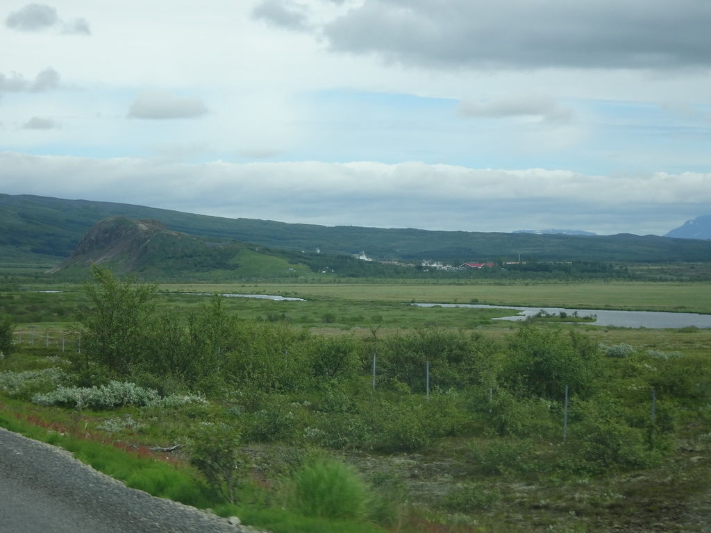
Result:
[[[191,402],[205,402],[201,397],[172,395],[161,398],[154,389],[135,383],[112,381],[101,387],[58,387],[47,394],[35,394],[32,402],[42,406],[63,405],[77,409],[112,409],[126,405],[137,407],[179,407]]]

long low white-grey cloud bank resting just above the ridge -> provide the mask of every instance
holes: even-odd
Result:
[[[711,204],[711,174],[703,173],[585,176],[417,162],[156,164],[11,152],[0,154],[0,169],[9,194],[323,225],[663,235]]]

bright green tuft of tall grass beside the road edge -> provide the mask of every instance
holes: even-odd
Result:
[[[294,473],[291,507],[307,517],[359,520],[368,515],[369,490],[348,465],[323,459]]]

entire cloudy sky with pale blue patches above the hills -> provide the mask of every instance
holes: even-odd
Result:
[[[485,232],[711,214],[708,0],[0,10],[0,193]]]

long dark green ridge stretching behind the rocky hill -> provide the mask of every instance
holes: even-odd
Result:
[[[187,246],[212,250],[210,261],[219,262],[217,252],[227,249],[227,242],[252,252],[258,252],[258,247],[331,256],[365,252],[373,259],[403,262],[515,261],[518,257],[541,261],[711,261],[711,241],[698,238],[326,227],[229,219],[121,203],[4,194],[0,194],[0,257],[5,262],[39,258],[55,266],[75,252],[82,237],[97,222],[114,216],[155,221],[146,227],[149,231],[160,227],[161,237],[154,239],[151,246],[161,242],[166,232],[175,233],[170,239],[185,235],[181,237],[183,243],[190,244],[173,247],[179,256],[176,261],[189,255],[185,252]],[[697,232],[697,235],[705,234]],[[166,244],[164,253],[172,253],[170,249]]]

